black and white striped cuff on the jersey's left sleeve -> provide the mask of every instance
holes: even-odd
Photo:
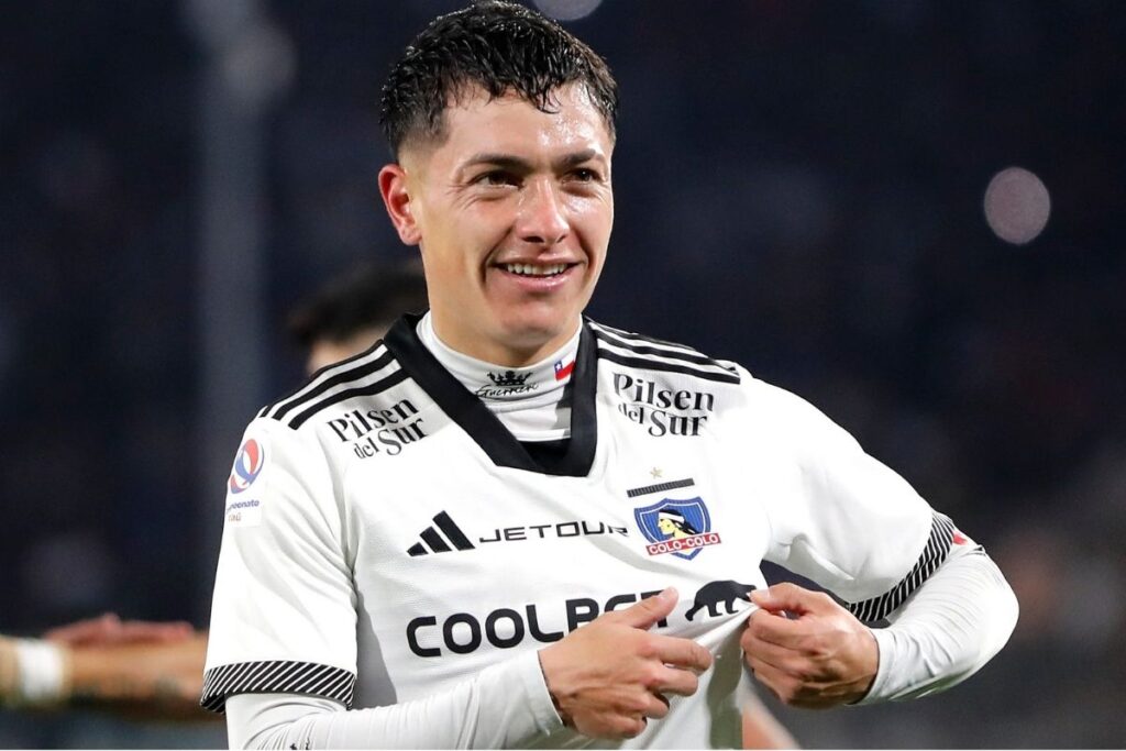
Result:
[[[292,660],[236,662],[204,673],[199,706],[222,714],[226,697],[234,694],[306,694],[350,707],[355,690],[356,674],[342,668]]]

